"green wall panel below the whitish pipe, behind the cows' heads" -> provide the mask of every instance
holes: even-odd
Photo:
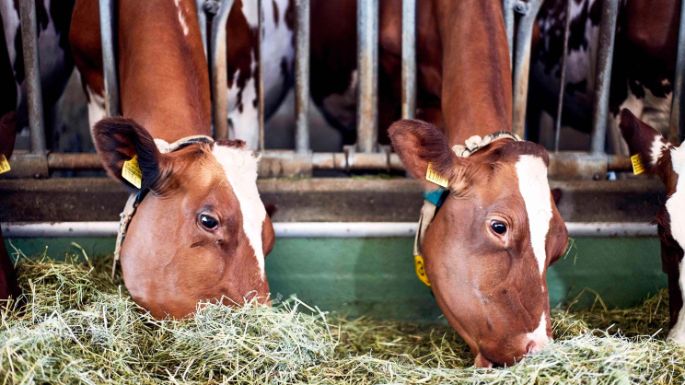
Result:
[[[267,275],[276,296],[297,294],[323,310],[350,316],[435,320],[440,311],[430,290],[414,276],[410,238],[279,239],[267,257]],[[26,255],[90,256],[114,248],[113,238],[7,240]],[[9,246],[8,250],[12,251]],[[666,286],[656,238],[576,239],[574,255],[548,272],[552,305],[575,299],[589,305],[599,294],[609,306],[630,306]]]

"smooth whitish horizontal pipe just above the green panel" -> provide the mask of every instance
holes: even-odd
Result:
[[[117,233],[119,222],[0,223],[7,238],[105,237]],[[567,222],[572,237],[654,237],[656,225],[647,222]],[[281,238],[412,237],[415,222],[276,222]]]

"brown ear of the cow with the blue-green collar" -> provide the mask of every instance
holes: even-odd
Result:
[[[450,179],[456,156],[445,135],[434,125],[421,120],[400,120],[393,123],[388,134],[395,152],[414,178],[424,180],[428,164],[440,176]]]

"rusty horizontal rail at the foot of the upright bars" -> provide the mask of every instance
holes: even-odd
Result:
[[[304,165],[317,170],[403,170],[404,166],[395,153],[389,156],[384,153],[339,153],[339,152],[316,152],[307,156],[293,151],[264,151],[261,161],[282,164]],[[15,153],[11,159],[12,164],[21,168],[29,163],[44,162],[30,154]],[[567,168],[579,168],[587,164],[606,164],[608,171],[630,171],[630,159],[619,155],[593,155],[587,153],[559,152],[550,154],[550,164],[563,163]],[[101,170],[102,163],[95,153],[50,153],[47,156],[47,165],[50,171],[56,170]],[[14,167],[13,167],[14,168]],[[552,168],[552,167],[550,167]]]

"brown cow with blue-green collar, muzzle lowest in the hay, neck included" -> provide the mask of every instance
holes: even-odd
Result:
[[[313,2],[311,19],[312,96],[349,131],[356,1]],[[400,20],[400,0],[380,2],[379,137],[400,113]],[[550,194],[548,157],[510,136],[468,158],[452,149],[474,135],[511,130],[500,1],[420,1],[416,26],[417,116],[431,123],[400,121],[389,136],[426,191],[438,187],[425,180],[429,163],[447,179],[449,193],[420,245],[428,279],[476,365],[511,364],[551,340],[546,270],[564,252],[567,232]]]

